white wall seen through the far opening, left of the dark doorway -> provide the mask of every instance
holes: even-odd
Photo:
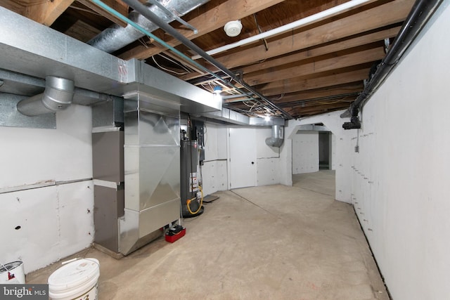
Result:
[[[302,131],[293,136],[293,174],[319,171],[319,132]]]

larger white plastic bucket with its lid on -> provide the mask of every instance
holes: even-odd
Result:
[[[97,259],[78,259],[67,263],[49,277],[50,299],[96,300],[99,276]]]

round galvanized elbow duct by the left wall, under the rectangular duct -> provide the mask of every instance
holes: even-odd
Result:
[[[17,110],[29,117],[65,110],[72,104],[74,91],[75,84],[72,80],[47,76],[44,93],[20,100]]]

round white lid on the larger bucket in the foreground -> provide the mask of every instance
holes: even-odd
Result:
[[[79,259],[58,268],[49,277],[49,289],[53,292],[73,289],[100,276],[97,259]]]

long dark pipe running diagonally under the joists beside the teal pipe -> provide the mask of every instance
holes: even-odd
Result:
[[[212,65],[214,65],[214,67],[217,67],[219,70],[221,70],[225,74],[229,75],[229,77],[231,77],[231,79],[233,79],[234,81],[236,81],[239,84],[241,84],[245,89],[247,89],[251,93],[255,94],[255,96],[263,99],[271,107],[271,109],[279,110],[286,119],[293,119],[293,117],[291,115],[289,115],[288,112],[285,112],[285,110],[283,110],[281,107],[278,107],[277,105],[272,103],[269,99],[264,97],[257,90],[253,89],[252,86],[250,86],[249,84],[245,83],[245,81],[243,81],[243,79],[240,79],[239,77],[237,77],[236,74],[234,74],[233,72],[228,70],[224,65],[222,65],[217,60],[212,58],[212,56],[210,56],[208,53],[203,51],[202,48],[200,48],[199,46],[195,45],[191,40],[189,40],[186,37],[184,37],[183,34],[180,34],[179,32],[177,32],[172,26],[168,25],[164,20],[161,20],[158,17],[158,15],[155,15],[150,10],[148,10],[147,6],[144,6],[143,4],[141,4],[141,2],[139,2],[139,0],[123,0],[123,1],[126,4],[128,4],[131,8],[133,8],[135,11],[141,13],[141,15],[143,15],[148,20],[150,20],[150,22],[155,23],[162,30],[164,30],[168,34],[172,35],[172,37],[174,37],[175,39],[178,39],[179,41],[181,41],[181,43],[183,43],[185,46],[190,48],[192,51],[197,53],[199,56],[201,56],[202,58],[207,60]],[[228,84],[228,82],[224,81],[224,84]],[[261,103],[259,100],[257,100],[257,102],[259,102],[259,104],[263,105],[263,103]]]

